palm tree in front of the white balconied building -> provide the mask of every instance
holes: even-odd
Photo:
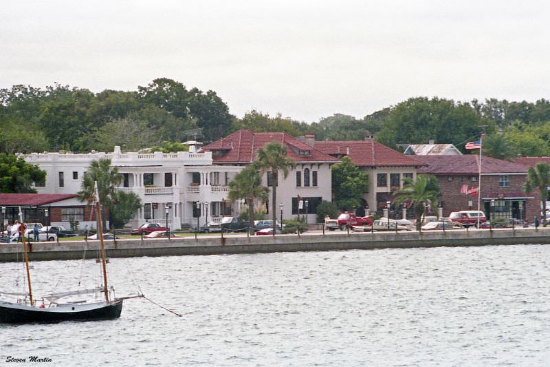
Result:
[[[98,195],[103,214],[102,224],[105,228],[105,208],[111,207],[111,199],[115,194],[116,187],[122,182],[122,175],[118,173],[117,167],[111,167],[109,158],[99,158],[92,160],[88,171],[85,172],[80,191],[76,194],[80,201],[91,203],[94,198],[94,182],[98,182]]]

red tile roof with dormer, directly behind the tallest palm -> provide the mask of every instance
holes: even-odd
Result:
[[[251,163],[256,159],[258,149],[271,142],[284,145],[287,148],[287,157],[296,162],[340,162],[338,158],[322,153],[318,149],[283,132],[254,133],[250,130],[239,130],[202,147],[202,150],[222,152],[221,156],[212,156],[214,164]],[[298,151],[310,151],[311,155],[300,156]]]

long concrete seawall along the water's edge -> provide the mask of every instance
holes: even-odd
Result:
[[[110,258],[173,255],[215,255],[233,253],[272,253],[287,251],[331,251],[349,249],[412,249],[419,247],[464,247],[501,244],[548,244],[550,227],[539,229],[494,229],[471,231],[327,233],[327,235],[219,236],[177,238],[173,240],[105,241]],[[40,260],[78,260],[96,255],[99,241],[40,242],[32,244],[29,258]],[[21,260],[21,244],[0,245],[0,262]]]

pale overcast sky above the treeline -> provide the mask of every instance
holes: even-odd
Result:
[[[0,7],[0,88],[155,78],[230,112],[362,118],[414,96],[550,98],[548,1],[25,1]]]

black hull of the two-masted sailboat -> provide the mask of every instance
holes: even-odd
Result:
[[[56,312],[55,308],[17,308],[0,305],[0,322],[9,324],[29,324],[32,322],[94,321],[116,319],[122,312],[122,300],[104,304],[94,309]]]

